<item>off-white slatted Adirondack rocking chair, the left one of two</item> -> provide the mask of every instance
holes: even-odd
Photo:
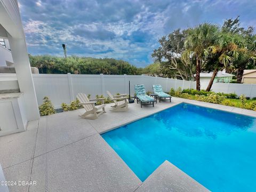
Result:
[[[87,95],[84,93],[78,93],[76,95],[76,98],[79,100],[79,105],[82,105],[85,109],[85,113],[83,115],[80,115],[80,117],[85,119],[97,119],[98,116],[102,113],[106,113],[105,111],[105,104],[104,104],[104,98],[100,99],[88,99]],[[95,102],[91,101],[101,101],[103,104],[95,106]],[[102,109],[102,111],[99,111]]]

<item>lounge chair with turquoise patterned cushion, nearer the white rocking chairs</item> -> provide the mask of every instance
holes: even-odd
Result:
[[[137,103],[140,101],[141,108],[142,108],[142,105],[153,105],[154,107],[154,102],[156,102],[156,100],[146,94],[146,89],[143,84],[134,85],[134,88],[135,88],[135,99],[137,99]]]

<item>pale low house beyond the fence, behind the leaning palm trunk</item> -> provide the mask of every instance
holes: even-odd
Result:
[[[209,83],[213,72],[210,73],[200,73],[200,82]],[[196,76],[196,75],[195,75]],[[218,71],[213,83],[229,83],[232,77],[235,75],[226,73],[226,70]]]

